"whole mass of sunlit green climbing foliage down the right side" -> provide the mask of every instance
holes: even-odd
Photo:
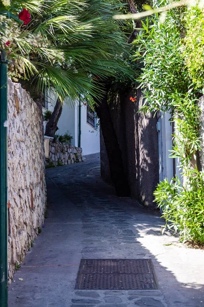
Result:
[[[159,3],[155,3],[157,6]],[[204,183],[203,174],[198,169],[201,149],[198,98],[203,73],[199,74],[198,80],[197,71],[202,69],[204,56],[203,47],[198,53],[199,48],[194,44],[200,36],[202,46],[204,36],[202,31],[194,33],[193,17],[187,22],[188,16],[198,10],[178,8],[165,16],[146,18],[134,45],[137,47],[135,60],[143,63],[138,78],[145,96],[141,111],[171,113],[171,121],[176,127],[171,157],[180,158],[181,162],[182,182],[177,177],[170,182],[165,179],[154,193],[155,201],[162,208],[166,228],[179,231],[183,242],[203,244]],[[200,10],[196,13],[200,20],[197,29],[203,27],[201,16],[203,18]]]

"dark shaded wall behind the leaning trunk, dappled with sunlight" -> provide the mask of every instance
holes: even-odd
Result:
[[[157,117],[151,113],[138,113],[143,104],[140,90],[136,102],[130,101],[131,96],[134,96],[133,92],[120,95],[119,102],[111,106],[111,117],[132,197],[155,209],[153,192],[159,183]],[[101,177],[110,183],[108,156],[102,133],[100,136]]]

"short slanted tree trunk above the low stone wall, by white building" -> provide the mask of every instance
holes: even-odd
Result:
[[[56,102],[53,114],[46,124],[45,136],[54,138],[56,130],[57,130],[57,124],[58,124],[61,114],[62,114],[62,103],[58,99]]]

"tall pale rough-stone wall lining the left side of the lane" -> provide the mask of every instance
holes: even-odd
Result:
[[[46,204],[42,110],[19,83],[8,82],[9,278],[32,246]]]

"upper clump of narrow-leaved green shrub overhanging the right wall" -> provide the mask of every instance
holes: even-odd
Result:
[[[146,18],[134,41],[135,60],[143,62],[137,81],[144,89],[144,112],[167,112],[170,108],[173,111],[177,100],[181,104],[191,90],[192,82],[181,51],[182,14],[181,9],[169,11],[164,23],[160,23],[159,16]]]

